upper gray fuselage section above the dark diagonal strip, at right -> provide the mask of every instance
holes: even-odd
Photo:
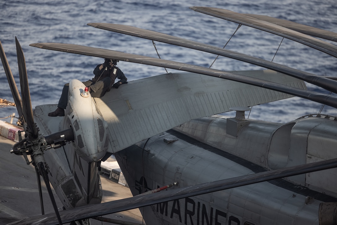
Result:
[[[233,123],[244,125],[237,130]],[[286,124],[212,116],[175,130],[268,170],[337,158],[335,116],[308,115]],[[331,179],[336,173],[330,169],[286,179],[337,197],[337,181]]]

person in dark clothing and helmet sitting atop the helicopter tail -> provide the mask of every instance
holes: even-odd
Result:
[[[102,97],[111,88],[118,88],[121,84],[127,83],[124,73],[116,66],[117,60],[105,59],[103,64],[98,64],[94,69],[95,77],[92,80],[84,81],[83,84],[89,88],[91,97]],[[115,83],[115,79],[119,81]],[[54,112],[48,116],[64,116],[64,109],[68,104],[69,83],[63,86],[62,94]]]

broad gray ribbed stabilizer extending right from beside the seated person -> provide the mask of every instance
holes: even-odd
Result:
[[[303,81],[271,70],[234,71],[305,89]],[[192,119],[291,97],[277,91],[194,73],[168,73],[131,81],[100,99],[116,152]]]

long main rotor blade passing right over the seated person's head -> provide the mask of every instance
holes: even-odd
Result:
[[[219,77],[222,79],[237,81],[240,83],[250,84],[258,87],[267,88],[274,91],[280,91],[282,93],[295,95],[298,97],[302,97],[304,99],[308,99],[314,102],[318,102],[321,104],[326,104],[328,106],[337,108],[337,97],[317,93],[314,91],[298,89],[295,87],[290,87],[262,79],[252,78],[244,75],[239,75],[235,73],[220,71],[217,69],[205,68],[202,66],[190,65],[181,62],[174,62],[164,59],[152,58],[148,56],[140,56],[134,54],[128,54],[124,52],[117,52],[113,50],[107,49],[98,49],[87,46],[73,45],[73,44],[60,44],[60,43],[37,43],[30,44],[30,46],[42,48],[42,49],[50,49],[61,52],[69,52],[81,55],[89,55],[101,58],[111,58],[116,60],[123,60],[127,62],[141,63],[159,67],[166,67],[171,69],[178,69],[181,71],[187,71],[197,74],[204,74],[212,77]]]

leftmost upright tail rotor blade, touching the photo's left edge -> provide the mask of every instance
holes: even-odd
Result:
[[[5,70],[5,74],[6,74],[6,77],[7,77],[7,80],[8,80],[10,90],[11,90],[12,95],[13,95],[15,105],[16,105],[18,113],[19,113],[19,117],[21,117],[23,115],[21,97],[20,97],[20,94],[19,94],[19,91],[18,91],[18,87],[15,83],[12,71],[9,67],[7,57],[5,55],[5,51],[2,48],[1,41],[0,41],[0,58],[1,58],[3,68]]]

